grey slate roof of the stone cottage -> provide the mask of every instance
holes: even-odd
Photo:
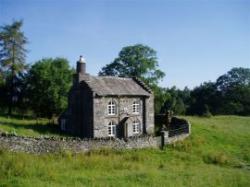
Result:
[[[114,76],[89,76],[84,80],[99,96],[150,96],[151,90],[139,79]]]

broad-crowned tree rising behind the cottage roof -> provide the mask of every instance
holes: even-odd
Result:
[[[138,77],[152,86],[165,73],[158,68],[156,51],[146,45],[136,44],[122,48],[119,56],[103,67],[99,75]]]

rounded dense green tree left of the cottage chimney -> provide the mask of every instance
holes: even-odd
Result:
[[[27,77],[29,102],[37,116],[58,116],[67,105],[73,70],[63,58],[42,59],[30,69]]]

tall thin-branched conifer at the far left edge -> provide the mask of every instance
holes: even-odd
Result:
[[[27,50],[24,48],[27,44],[27,38],[21,31],[22,21],[14,21],[11,25],[5,25],[0,30],[0,68],[8,75],[8,105],[9,115],[12,113],[13,103],[16,101],[15,82],[20,74],[27,69],[25,57]]]

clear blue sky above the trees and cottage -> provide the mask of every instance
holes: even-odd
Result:
[[[23,20],[27,62],[80,55],[97,75],[129,45],[157,51],[161,86],[194,88],[250,68],[250,0],[0,0],[0,26]]]

